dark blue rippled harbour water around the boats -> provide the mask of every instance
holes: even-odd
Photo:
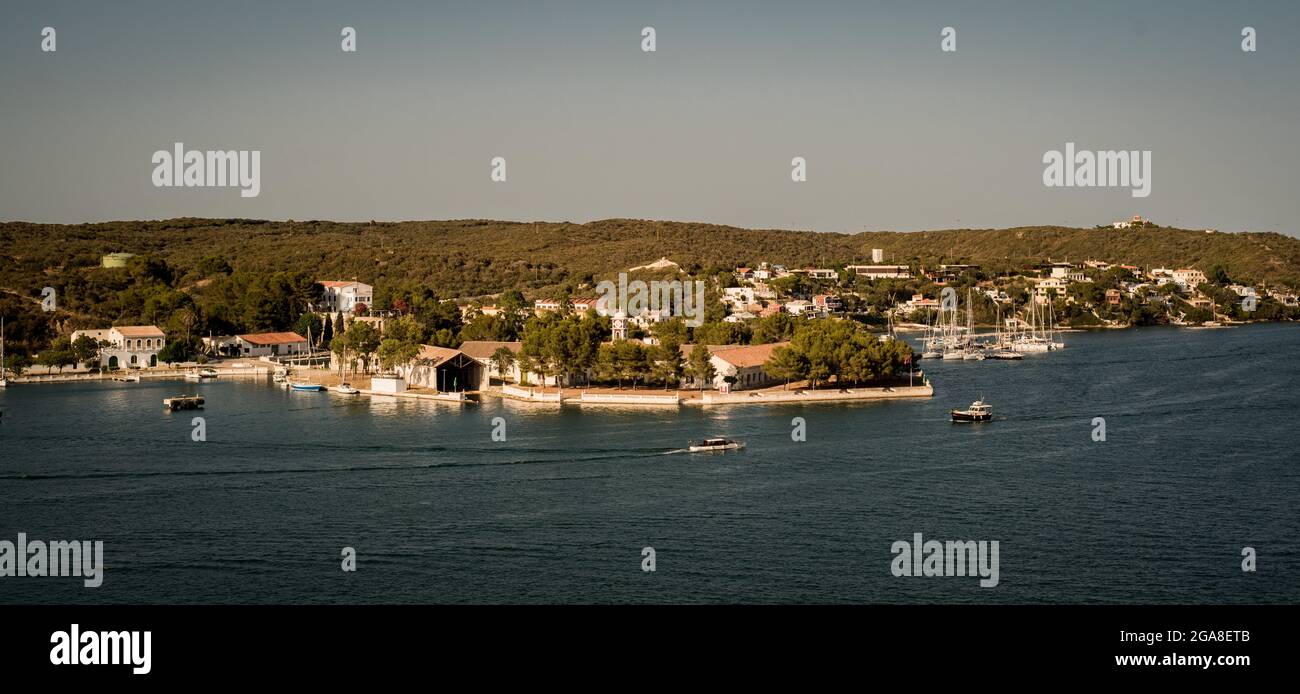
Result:
[[[928,363],[933,399],[858,405],[13,386],[0,539],[101,539],[108,568],[94,590],[0,578],[0,602],[1300,602],[1300,326],[1065,339],[1020,363]],[[195,387],[205,411],[161,409]],[[997,421],[948,421],[980,396]],[[706,434],[749,447],[677,452]],[[913,533],[998,541],[1001,584],[892,576]]]

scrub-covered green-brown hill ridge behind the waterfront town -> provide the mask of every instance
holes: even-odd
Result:
[[[667,256],[689,273],[767,260],[789,266],[870,261],[976,263],[988,269],[1098,259],[1143,266],[1222,265],[1240,281],[1300,285],[1300,239],[1273,233],[1147,229],[961,229],[833,234],[689,222],[589,224],[321,222],[166,220],[87,225],[0,224],[0,287],[27,294],[62,273],[95,268],[113,251],[155,255],[182,285],[204,279],[204,260],[234,270],[307,272],[385,286],[420,283],[441,296],[529,292]]]

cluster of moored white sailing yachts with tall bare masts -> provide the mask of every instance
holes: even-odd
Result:
[[[998,321],[992,335],[975,334],[972,307],[971,294],[967,292],[965,321],[961,320],[961,308],[936,313],[926,330],[922,357],[944,361],[1015,360],[1023,359],[1027,353],[1065,348],[1065,343],[1057,337],[1050,304],[1031,303],[1026,307],[1024,318],[1008,320],[1005,326],[998,309]]]

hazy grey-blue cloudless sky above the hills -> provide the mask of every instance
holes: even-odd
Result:
[[[1295,235],[1297,36],[1287,0],[3,0],[0,221]],[[155,186],[177,142],[259,151],[260,194]],[[1150,195],[1045,186],[1067,142],[1149,151]]]

